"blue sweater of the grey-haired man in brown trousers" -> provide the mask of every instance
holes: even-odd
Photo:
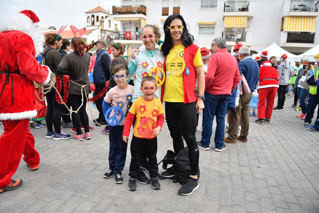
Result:
[[[259,66],[257,62],[250,57],[246,57],[238,63],[238,69],[240,74],[245,76],[250,91],[254,92],[255,86],[259,81]]]

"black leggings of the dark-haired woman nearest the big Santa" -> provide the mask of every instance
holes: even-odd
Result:
[[[45,116],[45,122],[47,123],[48,132],[54,131],[56,134],[61,133],[61,112],[63,104],[59,104],[56,101],[55,90],[51,89],[46,95],[47,98],[47,114]],[[61,96],[63,96],[63,89],[61,91]]]

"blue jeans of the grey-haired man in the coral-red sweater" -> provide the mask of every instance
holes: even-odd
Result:
[[[213,95],[205,92],[205,96],[205,119],[201,144],[209,146],[211,142],[213,120],[216,115],[217,126],[214,138],[215,147],[222,148],[224,146],[223,140],[225,136],[225,116],[230,95]]]

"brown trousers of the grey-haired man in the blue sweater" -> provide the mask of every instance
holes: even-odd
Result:
[[[230,111],[229,126],[228,126],[228,139],[232,141],[237,140],[237,131],[239,126],[239,119],[241,116],[241,133],[240,137],[247,139],[249,131],[249,104],[253,97],[253,93],[241,95],[239,97],[239,105],[235,111]]]

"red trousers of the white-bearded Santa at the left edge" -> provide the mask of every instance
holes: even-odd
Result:
[[[0,188],[11,182],[23,160],[35,167],[40,163],[40,155],[34,148],[34,137],[29,132],[29,119],[3,120],[4,133],[0,137]]]

